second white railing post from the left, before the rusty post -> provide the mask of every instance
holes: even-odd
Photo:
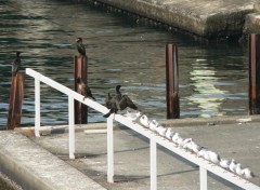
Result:
[[[74,98],[68,96],[68,135],[69,135],[69,159],[75,159],[75,118],[74,118]]]

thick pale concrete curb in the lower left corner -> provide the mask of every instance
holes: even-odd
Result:
[[[0,136],[0,171],[23,189],[105,189],[23,134],[3,131]]]

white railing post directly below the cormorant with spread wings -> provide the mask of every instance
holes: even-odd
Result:
[[[114,137],[113,118],[107,118],[107,182],[114,182]]]

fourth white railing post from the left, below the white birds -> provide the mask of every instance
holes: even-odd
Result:
[[[156,141],[150,139],[150,175],[151,190],[157,189],[157,148]]]

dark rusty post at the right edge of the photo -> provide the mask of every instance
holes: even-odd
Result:
[[[249,35],[249,114],[260,113],[260,35]]]

